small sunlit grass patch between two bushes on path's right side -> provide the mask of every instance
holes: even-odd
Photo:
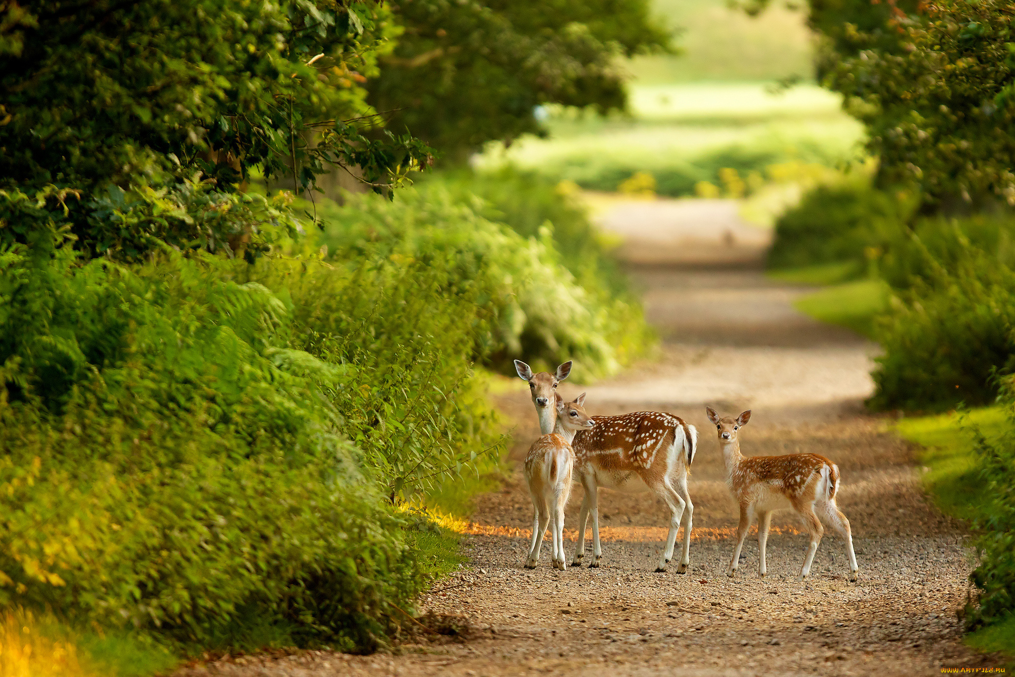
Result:
[[[880,279],[845,282],[798,298],[794,307],[820,322],[873,338],[874,318],[888,309],[890,290]]]

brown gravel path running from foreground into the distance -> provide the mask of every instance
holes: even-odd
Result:
[[[601,568],[522,567],[531,502],[519,472],[481,497],[469,564],[424,606],[470,619],[463,641],[406,647],[398,656],[287,659],[253,674],[932,675],[982,665],[959,642],[956,610],[969,560],[961,525],[927,503],[903,443],[863,413],[875,346],[796,313],[801,290],[767,281],[765,233],[725,201],[618,205],[604,227],[623,253],[664,339],[660,362],[588,389],[594,414],[674,412],[696,425],[691,569],[655,573],[665,510],[649,494],[604,492]],[[518,422],[517,463],[538,435],[528,389],[500,398]],[[565,396],[580,387],[565,382]],[[773,520],[768,577],[748,540],[740,573],[724,573],[735,504],[703,405],[753,409],[745,454],[815,452],[842,472],[839,506],[853,524],[860,581],[848,583],[841,541],[826,535],[812,580],[796,583],[805,537],[792,515]],[[573,547],[581,488],[566,525]],[[752,530],[753,532],[753,530]],[[678,541],[679,542],[679,541]],[[223,674],[231,673],[223,667]]]

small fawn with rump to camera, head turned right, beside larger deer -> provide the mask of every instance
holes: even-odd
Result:
[[[549,525],[553,539],[553,568],[561,571],[567,568],[564,556],[564,506],[570,497],[571,475],[574,468],[574,452],[571,439],[579,430],[595,426],[585,413],[585,393],[573,402],[564,402],[553,393],[556,404],[556,422],[553,432],[542,435],[532,444],[525,457],[525,479],[529,483],[529,494],[535,516],[532,518],[532,546],[526,568],[536,568],[543,536]]]

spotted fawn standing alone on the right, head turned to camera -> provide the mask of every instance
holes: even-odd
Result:
[[[750,410],[736,418],[722,417],[712,407],[705,407],[705,413],[718,430],[719,445],[726,463],[726,482],[734,498],[740,503],[737,546],[726,574],[731,579],[736,576],[747,531],[751,522],[757,519],[758,578],[765,577],[765,544],[771,514],[775,510],[791,507],[803,518],[804,526],[810,534],[807,555],[797,581],[805,581],[811,573],[814,553],[824,534],[819,516],[845,541],[845,552],[850,557],[850,581],[856,581],[857,555],[853,551],[850,521],[835,504],[835,496],[838,494],[838,466],[817,454],[745,457],[740,453],[738,432],[751,419]]]

